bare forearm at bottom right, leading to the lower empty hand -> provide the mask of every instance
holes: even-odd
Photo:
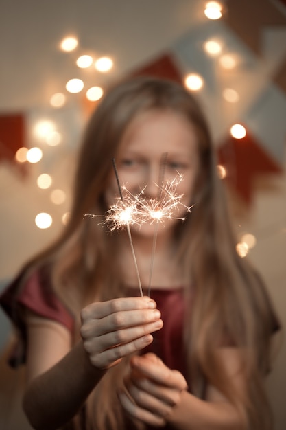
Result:
[[[188,392],[169,422],[178,430],[245,430],[237,409],[227,402],[207,402]]]

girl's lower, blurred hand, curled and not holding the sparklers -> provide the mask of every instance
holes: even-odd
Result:
[[[123,408],[132,417],[158,427],[166,425],[187,390],[184,376],[152,353],[130,359],[130,373],[124,382],[126,392],[119,393]]]

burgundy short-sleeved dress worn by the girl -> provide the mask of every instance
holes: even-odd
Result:
[[[23,312],[25,308],[41,317],[57,321],[67,327],[72,335],[75,328],[74,317],[53,291],[47,270],[35,271],[19,288],[20,280],[21,275],[0,296],[0,305],[19,332],[16,348],[10,358],[10,365],[13,367],[25,363],[27,344],[25,312]],[[135,288],[131,289],[130,295],[133,293],[137,293]],[[165,365],[179,370],[187,378],[182,335],[185,313],[182,288],[152,288],[151,297],[160,310],[164,326],[158,332],[154,332],[154,341],[142,353],[154,352]],[[84,428],[85,425],[82,425],[82,429]],[[148,429],[151,428],[148,427]],[[165,429],[169,428],[165,427]]]

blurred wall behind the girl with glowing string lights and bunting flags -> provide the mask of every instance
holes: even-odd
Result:
[[[286,1],[1,0],[0,41],[1,289],[64,229],[81,133],[106,87],[149,73],[200,100],[237,252],[285,326]],[[0,311],[4,360],[11,332]],[[275,430],[285,430],[285,362],[282,342],[267,380]],[[0,372],[1,429],[29,429],[23,370]]]

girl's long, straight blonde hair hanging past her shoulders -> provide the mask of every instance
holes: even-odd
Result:
[[[83,216],[104,215],[108,209],[103,194],[111,159],[117,156],[130,122],[150,109],[181,113],[198,137],[200,173],[193,196],[196,204],[174,234],[178,261],[195,289],[184,332],[192,392],[203,398],[207,380],[239,407],[249,429],[269,430],[263,376],[270,368],[270,337],[276,317],[261,279],[245,259],[237,256],[208,125],[198,103],[180,84],[141,77],[122,82],[108,92],[86,128],[69,225],[36,263],[45,261],[51,265],[53,285],[75,315],[95,297],[111,299],[123,294],[117,264],[119,235],[107,236],[104,228],[91,218],[83,221]],[[106,285],[108,288],[102,288]],[[186,295],[188,298],[188,291]],[[215,359],[215,351],[224,344],[246,351],[243,371],[248,385],[243,398],[225,383],[224,370]],[[98,429],[120,428],[121,408],[116,398],[110,403],[109,396],[114,381],[120,384],[124,363],[108,372],[95,389]],[[104,407],[105,403],[108,407]]]

